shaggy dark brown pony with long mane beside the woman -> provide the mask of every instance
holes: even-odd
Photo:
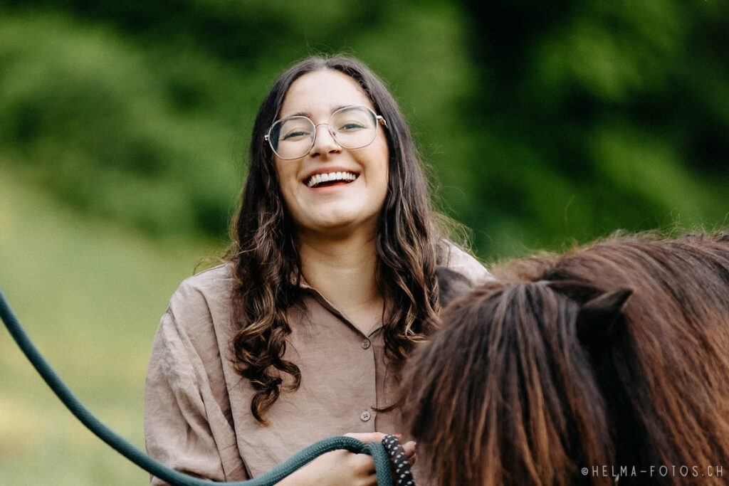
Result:
[[[438,484],[725,484],[729,234],[617,235],[493,273],[403,370]]]

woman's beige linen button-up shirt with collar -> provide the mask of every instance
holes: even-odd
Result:
[[[446,266],[474,283],[491,278],[455,246]],[[390,405],[397,388],[381,328],[365,334],[305,283],[303,305],[287,314],[292,332],[284,354],[300,368],[301,386],[281,392],[266,415],[270,426],[257,423],[250,411],[254,389],[230,360],[232,285],[232,266],[224,264],[187,278],[171,298],[147,372],[149,455],[199,477],[240,481],[325,437],[378,431],[408,440],[399,412],[373,411]],[[152,485],[163,484],[152,477]]]

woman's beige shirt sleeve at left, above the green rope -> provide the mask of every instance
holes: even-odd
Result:
[[[197,477],[248,479],[235,434],[227,420],[218,416],[221,412],[210,395],[200,356],[168,310],[157,328],[144,391],[147,453]],[[152,477],[150,484],[166,483]]]

